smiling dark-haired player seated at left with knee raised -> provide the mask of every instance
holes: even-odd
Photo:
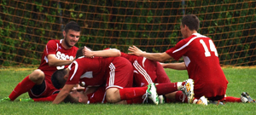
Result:
[[[63,36],[61,40],[49,40],[38,69],[18,83],[9,97],[0,101],[15,101],[26,92],[31,98],[48,98],[47,101],[54,101],[59,89],[55,89],[51,83],[51,75],[56,70],[67,67],[74,60],[78,50],[74,45],[79,41],[80,26],[70,21],[64,28]]]

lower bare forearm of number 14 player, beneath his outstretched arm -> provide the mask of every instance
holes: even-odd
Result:
[[[170,68],[174,70],[186,70],[187,67],[185,66],[184,62],[181,63],[160,63],[161,66],[164,68]]]

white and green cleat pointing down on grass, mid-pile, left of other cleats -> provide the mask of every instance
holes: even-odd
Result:
[[[148,103],[148,99],[153,101],[155,105],[159,104],[159,97],[156,93],[154,83],[148,84],[148,89],[146,90],[146,93],[143,95],[143,103]]]

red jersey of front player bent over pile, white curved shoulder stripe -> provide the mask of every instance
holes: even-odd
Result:
[[[106,83],[106,72],[108,72],[108,66],[112,60],[113,57],[79,57],[68,66],[70,72],[66,84],[76,84],[83,81],[85,87],[101,86]]]

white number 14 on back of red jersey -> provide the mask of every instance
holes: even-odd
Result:
[[[200,40],[200,43],[202,44],[202,46],[205,49],[206,57],[211,56],[211,53],[209,52],[209,49],[207,48],[207,44],[202,39]],[[214,52],[215,56],[218,57],[217,49],[215,48],[214,43],[212,42],[212,40],[209,40],[209,44],[210,44],[211,51]]]

